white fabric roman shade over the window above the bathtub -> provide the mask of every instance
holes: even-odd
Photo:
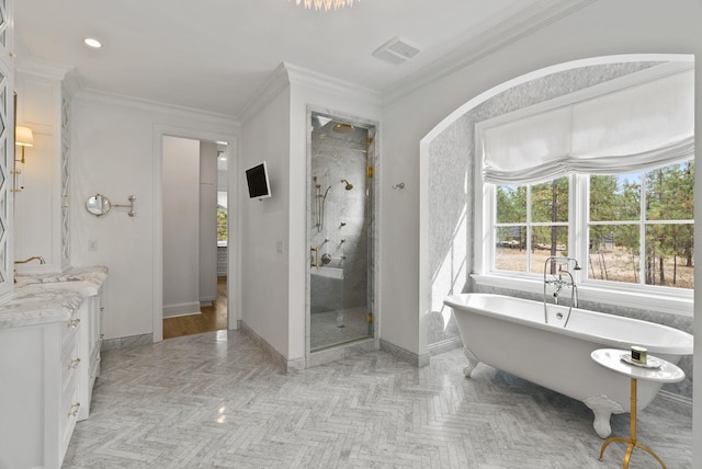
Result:
[[[485,181],[498,184],[635,172],[692,158],[693,71],[488,125],[482,142]]]

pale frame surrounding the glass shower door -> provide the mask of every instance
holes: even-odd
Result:
[[[373,141],[369,144],[369,152],[371,152],[371,147],[373,148],[373,155],[369,157],[366,160],[366,171],[367,168],[372,168],[372,175],[366,175],[367,178],[367,197],[371,199],[371,204],[369,204],[369,213],[365,218],[365,226],[367,230],[367,275],[371,277],[367,282],[367,302],[366,308],[369,312],[373,314],[373,334],[371,336],[359,339],[350,342],[346,342],[339,345],[331,345],[329,347],[325,347],[319,351],[312,351],[312,262],[309,262],[309,255],[307,255],[307,263],[305,266],[305,362],[306,366],[315,366],[321,365],[325,363],[333,362],[346,356],[347,353],[358,353],[358,352],[370,352],[380,350],[381,340],[380,340],[380,313],[377,310],[377,306],[380,302],[380,263],[378,259],[378,248],[380,248],[380,237],[378,237],[378,213],[380,213],[380,124],[375,121],[344,114],[342,112],[307,106],[307,130],[306,130],[306,204],[307,204],[307,219],[305,226],[305,240],[307,245],[312,245],[312,228],[315,225],[313,217],[313,174],[312,174],[312,134],[313,134],[313,124],[312,117],[313,115],[324,115],[326,117],[330,117],[335,121],[341,121],[344,123],[350,123],[356,125],[359,127],[364,127],[369,129],[374,129],[375,135],[373,137]]]

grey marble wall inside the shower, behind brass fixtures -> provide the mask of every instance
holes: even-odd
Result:
[[[369,130],[355,127],[338,134],[333,125],[331,121],[312,134],[312,175],[320,187],[310,184],[310,242],[319,249],[319,265],[325,254],[331,258],[325,268],[312,268],[312,313],[365,307],[369,301]],[[353,188],[347,190],[341,180]]]

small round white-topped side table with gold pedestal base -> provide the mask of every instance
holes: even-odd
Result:
[[[602,460],[602,456],[604,455],[604,449],[612,442],[622,442],[626,443],[626,455],[624,456],[624,469],[629,467],[629,461],[632,457],[632,453],[634,448],[641,448],[644,451],[648,453],[650,456],[656,458],[656,460],[660,464],[663,469],[666,469],[666,465],[663,460],[654,453],[653,449],[639,444],[636,441],[636,380],[643,379],[645,381],[656,381],[656,382],[678,382],[684,379],[684,371],[678,368],[676,365],[670,362],[666,362],[663,358],[648,356],[648,363],[656,363],[657,361],[660,363],[660,366],[657,368],[647,368],[643,366],[631,365],[622,359],[622,356],[631,356],[630,351],[624,351],[620,348],[599,348],[590,354],[590,357],[602,365],[605,368],[611,369],[614,373],[619,373],[621,375],[626,375],[632,379],[632,390],[631,390],[631,420],[630,420],[630,432],[629,438],[623,436],[612,436],[607,438],[607,441],[602,444],[602,448],[600,449],[600,460]]]

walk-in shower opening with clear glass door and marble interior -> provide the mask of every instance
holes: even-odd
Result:
[[[375,126],[312,112],[309,351],[375,336]]]

